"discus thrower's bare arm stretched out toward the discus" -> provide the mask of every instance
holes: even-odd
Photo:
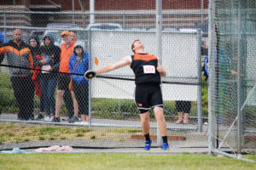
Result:
[[[113,71],[122,68],[126,65],[131,65],[131,55],[125,56],[123,59],[119,60],[117,63],[105,65],[102,68],[96,70],[96,74],[101,74],[109,71]]]

